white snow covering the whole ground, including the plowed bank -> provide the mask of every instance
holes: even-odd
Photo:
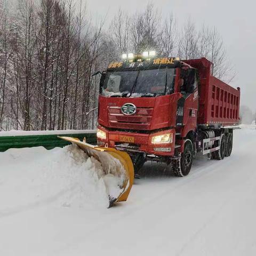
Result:
[[[0,153],[0,255],[256,255],[255,126],[185,178],[147,163],[111,209],[93,161],[71,147]]]

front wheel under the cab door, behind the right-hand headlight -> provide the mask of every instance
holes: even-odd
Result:
[[[185,142],[184,151],[180,159],[173,159],[172,170],[175,176],[184,177],[188,175],[193,163],[194,149],[191,140]]]

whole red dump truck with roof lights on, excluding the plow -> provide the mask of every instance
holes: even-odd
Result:
[[[231,154],[240,89],[212,75],[209,60],[123,54],[101,74],[98,145],[126,151],[135,172],[150,161],[187,175],[196,153]]]

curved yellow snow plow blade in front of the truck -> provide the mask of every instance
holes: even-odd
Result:
[[[80,141],[77,138],[62,136],[58,136],[58,138],[76,144],[89,157],[97,159],[101,163],[105,174],[113,174],[115,177],[117,176],[120,178],[122,181],[121,184],[119,184],[120,193],[115,196],[109,194],[108,208],[113,206],[116,202],[126,201],[134,179],[133,163],[126,152],[114,148],[93,146],[85,141]]]

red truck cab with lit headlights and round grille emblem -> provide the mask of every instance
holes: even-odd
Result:
[[[196,130],[197,110],[195,69],[178,58],[112,62],[100,81],[98,144],[133,159],[178,155],[176,133]]]

